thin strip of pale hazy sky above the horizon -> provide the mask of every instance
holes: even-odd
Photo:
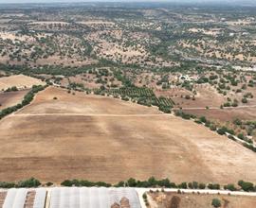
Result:
[[[160,0],[161,2],[196,2],[196,3],[244,3],[255,4],[256,0]],[[0,0],[2,3],[52,3],[52,2],[159,2],[157,0]]]

